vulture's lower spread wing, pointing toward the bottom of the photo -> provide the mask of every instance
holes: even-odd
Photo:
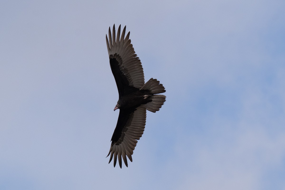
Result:
[[[122,157],[125,165],[128,167],[127,157],[132,162],[132,154],[137,140],[139,140],[144,132],[146,121],[146,105],[143,104],[137,108],[120,109],[117,126],[112,136],[111,148],[108,156],[111,153],[111,162],[114,156],[114,167],[119,160],[119,165],[122,168]],[[127,157],[126,157],[127,156]]]

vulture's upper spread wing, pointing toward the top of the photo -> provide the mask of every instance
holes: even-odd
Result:
[[[117,38],[115,39],[115,25],[113,26],[113,37],[109,27],[109,41],[106,35],[107,48],[109,52],[110,66],[113,72],[119,97],[128,92],[140,89],[144,85],[144,74],[141,60],[135,54],[130,32],[125,37],[126,26],[123,29],[121,38],[121,25],[119,26]]]

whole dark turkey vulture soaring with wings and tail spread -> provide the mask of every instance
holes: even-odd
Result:
[[[111,148],[107,157],[110,161],[114,157],[114,167],[119,160],[122,168],[122,157],[128,167],[127,157],[132,162],[132,154],[137,140],[144,132],[146,121],[146,110],[156,112],[165,102],[166,96],[157,95],[165,91],[159,81],[151,78],[144,84],[143,67],[141,60],[135,54],[130,32],[125,37],[126,26],[121,38],[121,25],[115,37],[115,25],[113,26],[113,37],[109,27],[109,40],[106,35],[107,48],[109,52],[110,66],[114,75],[119,100],[115,110],[120,109],[117,126],[111,138]],[[126,157],[127,156],[127,157]]]

